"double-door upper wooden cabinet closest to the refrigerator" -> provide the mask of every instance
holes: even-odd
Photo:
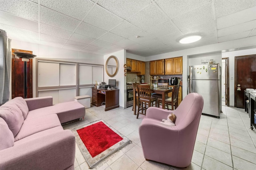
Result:
[[[165,75],[182,74],[182,57],[165,59]]]

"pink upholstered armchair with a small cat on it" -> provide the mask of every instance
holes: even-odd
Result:
[[[174,111],[149,107],[139,127],[144,158],[181,168],[189,166],[203,106],[202,96],[190,93]],[[176,115],[176,126],[160,123],[169,113]]]

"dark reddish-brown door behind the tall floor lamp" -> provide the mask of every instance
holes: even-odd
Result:
[[[24,62],[20,58],[15,57],[13,53],[28,53],[32,54],[32,51],[12,49],[12,98],[22,97],[24,98]],[[27,98],[33,97],[32,90],[32,59],[27,62]]]

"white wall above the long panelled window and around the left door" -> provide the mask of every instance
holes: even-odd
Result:
[[[12,40],[12,49],[33,51],[37,58],[48,58],[90,64],[104,64],[103,55],[84,53],[60,47],[39,45],[24,41]],[[12,80],[12,79],[11,79]],[[10,92],[11,93],[11,92]],[[33,96],[36,96],[36,60],[33,60]]]

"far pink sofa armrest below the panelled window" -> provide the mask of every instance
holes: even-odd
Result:
[[[53,105],[52,96],[39,97],[39,98],[27,98],[24,100],[27,102],[29,111]]]

